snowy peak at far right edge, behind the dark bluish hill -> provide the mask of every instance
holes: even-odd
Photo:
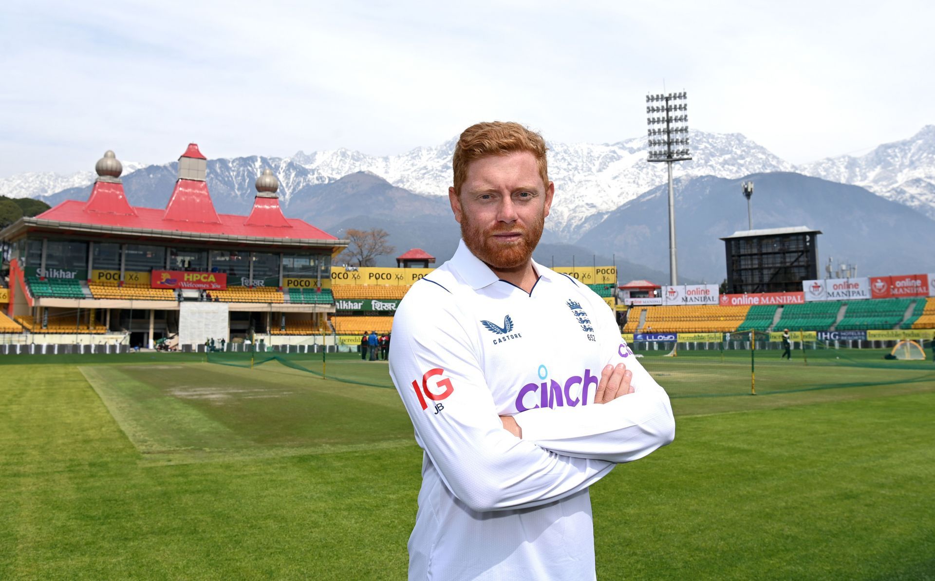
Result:
[[[935,125],[865,155],[829,157],[798,167],[798,172],[859,185],[935,219]]]

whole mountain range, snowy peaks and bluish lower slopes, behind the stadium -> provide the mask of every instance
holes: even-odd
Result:
[[[892,222],[913,228],[903,230],[903,238],[908,231],[913,234],[913,239],[921,241],[925,239],[926,230],[935,229],[932,228],[935,222],[922,215],[935,218],[933,125],[924,127],[913,138],[881,145],[860,157],[829,158],[799,167],[785,162],[741,134],[695,131],[690,135],[694,159],[676,166],[676,175],[679,176],[676,207],[679,246],[683,252],[680,254],[683,278],[688,276],[708,281],[723,278],[723,246],[713,252],[707,245],[720,245],[719,237],[746,227],[745,202],[740,196],[738,180],[750,179],[750,176],[755,176],[756,181],[755,227],[811,225],[825,229],[828,224],[840,222],[841,215],[852,214],[855,220],[869,220],[872,216],[867,212],[842,210],[856,204],[858,210],[875,208],[878,215],[892,214],[888,218]],[[212,159],[208,165],[209,189],[219,211],[246,213],[252,206],[252,183],[264,168],[269,167],[281,182],[279,194],[287,215],[304,218],[338,236],[347,227],[384,227],[393,235],[391,241],[397,249],[421,246],[443,260],[453,252],[458,235],[445,196],[451,182],[454,143],[452,139],[436,147],[416,148],[401,155],[384,157],[335,150],[299,152],[286,158],[248,156]],[[668,222],[664,213],[660,214],[661,217],[656,215],[658,211],[666,211],[665,187],[661,185],[665,182],[666,171],[661,164],[645,162],[645,138],[600,145],[549,143],[549,147],[550,178],[556,184],[556,194],[542,244],[553,246],[544,259],[539,252],[537,260],[549,264],[551,257],[557,254],[556,264],[565,264],[564,259],[559,260],[558,256],[577,255],[579,259],[586,256],[593,260],[593,254],[604,254],[601,258],[609,264],[614,257],[620,262],[626,253],[630,268],[634,272],[641,269],[640,276],[632,278],[668,278],[660,272],[668,269],[668,238],[660,230],[665,229]],[[124,167],[127,170],[124,171],[123,182],[131,203],[151,208],[165,207],[177,177],[176,162],[136,170],[134,168],[138,164],[124,163]],[[801,182],[812,184],[806,188],[794,177],[798,174],[825,180]],[[54,182],[50,174],[22,174],[14,179],[0,180],[0,194],[7,192],[7,196],[22,196],[32,193],[35,196],[46,193],[41,198],[53,205],[64,199],[86,199],[90,193],[91,174],[82,176],[60,177],[61,182]],[[798,175],[798,178],[802,177]],[[85,182],[81,184],[82,181]],[[853,183],[861,187],[841,194],[845,191],[835,189],[840,183],[832,182]],[[48,194],[55,183],[70,187]],[[813,194],[834,190],[834,194],[827,194],[828,199],[841,203],[841,207],[836,211],[819,211],[814,203],[816,198],[808,196],[781,196],[777,198],[780,201],[774,200],[770,197],[773,196],[770,188],[780,185],[805,188]],[[724,189],[729,187],[734,187],[735,191]],[[713,190],[717,191],[716,196],[704,194]],[[856,194],[858,190],[863,194]],[[663,197],[653,205],[652,200],[658,196]],[[713,205],[697,206],[696,203],[702,199],[704,203]],[[876,200],[885,204],[878,207]],[[654,206],[658,207],[654,211],[640,210]],[[781,211],[783,208],[785,213]],[[769,214],[763,214],[767,209]],[[910,213],[903,214],[902,210]],[[730,217],[738,212],[742,219]],[[915,216],[921,218],[921,222]],[[699,229],[696,224],[710,225],[710,231]],[[869,231],[871,224],[861,222],[856,224],[856,229]],[[652,242],[640,242],[640,231],[651,234],[646,240]],[[835,231],[831,229],[829,234]],[[849,257],[852,262],[868,268],[891,266],[891,263],[878,258],[871,258],[869,262],[864,260],[868,250],[852,244],[856,240],[841,238],[838,234],[829,235],[825,240],[826,243],[819,246],[823,254],[833,250],[833,255]],[[645,247],[640,244],[645,244]],[[880,241],[876,244],[879,246]],[[576,245],[577,248],[572,248]],[[685,256],[692,254],[691,249],[701,248],[712,251],[711,260],[685,260]],[[540,250],[545,249],[543,246]],[[639,252],[634,252],[637,249]],[[658,259],[658,252],[662,252],[662,259]],[[384,258],[384,261],[392,262],[390,258]],[[874,270],[874,273],[879,271]],[[626,275],[621,276],[625,278]]]

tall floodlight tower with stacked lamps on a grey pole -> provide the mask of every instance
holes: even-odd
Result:
[[[651,163],[669,166],[669,284],[678,284],[675,250],[675,194],[672,191],[672,164],[691,160],[688,153],[688,94],[647,94],[646,123],[649,125]]]

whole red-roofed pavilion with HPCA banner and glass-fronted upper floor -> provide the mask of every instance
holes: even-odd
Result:
[[[11,245],[7,327],[13,318],[33,333],[129,332],[132,345],[148,346],[184,325],[187,301],[226,303],[227,341],[281,331],[287,316],[306,332],[327,327],[331,262],[348,242],[286,218],[269,169],[247,216],[215,210],[194,143],[165,209],[129,203],[114,153],[95,169],[86,202],[0,232]]]

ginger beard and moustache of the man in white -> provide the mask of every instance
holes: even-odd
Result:
[[[544,227],[544,209],[529,227],[515,222],[512,225],[484,228],[472,222],[468,212],[465,212],[461,217],[461,238],[465,240],[471,253],[492,269],[509,270],[522,267],[529,262],[532,258],[532,251],[536,250],[536,245],[542,238]],[[518,232],[520,238],[510,241],[497,240],[496,234],[504,232]]]

